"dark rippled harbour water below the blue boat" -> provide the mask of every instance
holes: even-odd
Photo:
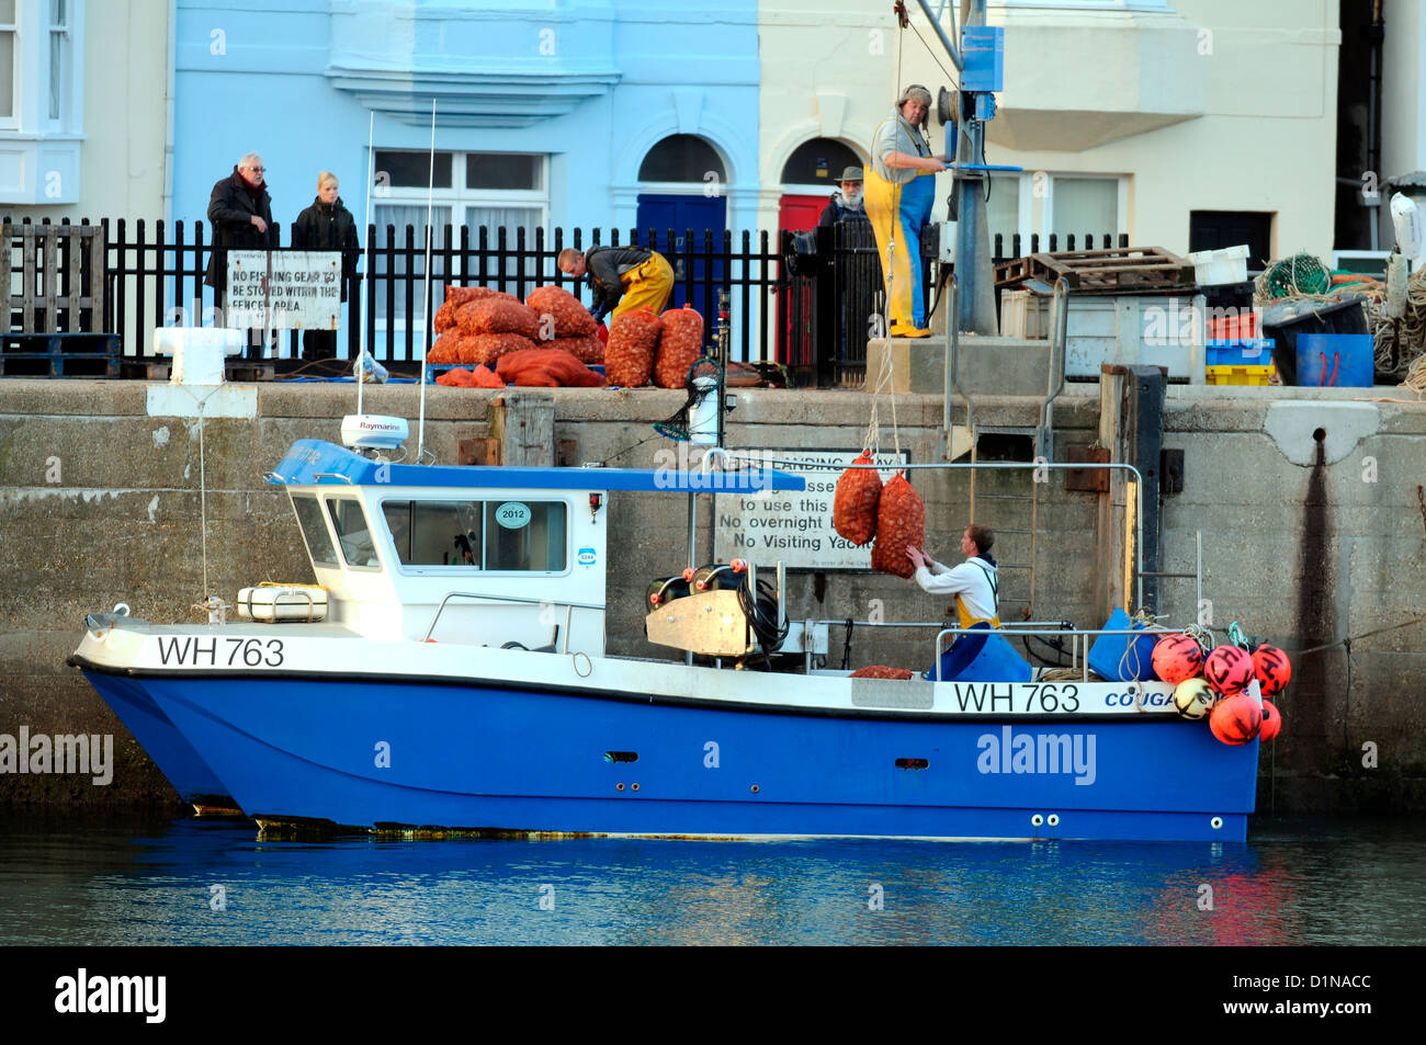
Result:
[[[265,841],[0,818],[0,945],[1426,942],[1426,821],[1246,844]]]

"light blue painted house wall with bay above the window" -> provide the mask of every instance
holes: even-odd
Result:
[[[717,148],[730,227],[754,225],[756,0],[178,0],[177,17],[170,218],[205,220],[257,150],[284,242],[321,170],[359,222],[369,113],[378,148],[425,150],[435,94],[438,150],[550,155],[550,225],[633,225],[639,164],[674,133]]]

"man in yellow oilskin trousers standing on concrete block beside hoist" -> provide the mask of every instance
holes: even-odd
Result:
[[[931,155],[920,127],[931,93],[911,84],[897,98],[897,115],[877,127],[867,168],[866,207],[877,237],[894,338],[927,338],[925,295],[921,292],[921,227],[931,217],[935,174],[948,158]],[[894,241],[891,264],[887,244]]]

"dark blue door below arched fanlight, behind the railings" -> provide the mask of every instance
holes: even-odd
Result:
[[[723,230],[727,228],[727,198],[722,195],[639,194],[639,242],[653,247],[673,265],[673,297],[669,308],[693,305],[703,314],[704,336],[717,321],[717,288],[724,281]],[[649,242],[653,230],[655,242]],[[673,244],[669,232],[673,231]],[[686,242],[692,230],[693,242]],[[713,234],[712,251],[704,251],[703,231]],[[712,257],[709,257],[712,254]],[[690,292],[692,291],[692,292]]]

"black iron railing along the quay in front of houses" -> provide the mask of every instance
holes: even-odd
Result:
[[[20,222],[30,224],[29,220]],[[41,224],[48,224],[44,221]],[[67,221],[63,224],[68,224]],[[84,224],[88,224],[87,220]],[[104,285],[103,322],[96,329],[118,334],[125,358],[148,358],[155,326],[207,325],[222,322],[222,294],[204,284],[212,252],[204,222],[147,222],[103,220]],[[281,235],[281,230],[279,230]],[[1095,241],[1109,247],[1111,235],[1085,235],[1084,249]],[[356,258],[355,272],[344,277],[345,304],[338,354],[356,355],[361,344],[384,364],[409,364],[431,344],[432,316],[445,297],[446,284],[493,287],[523,299],[536,287],[555,284],[585,295],[555,265],[565,247],[632,244],[653,247],[674,269],[670,307],[690,304],[703,314],[712,339],[719,291],[732,301],[732,355],[746,362],[777,362],[797,385],[860,383],[866,369],[867,341],[880,335],[876,315],[881,311],[881,265],[871,227],[866,221],[841,222],[831,230],[769,232],[704,230],[632,230],[620,240],[619,230],[576,228],[566,237],[535,230],[512,231],[486,227],[435,230],[431,247],[431,299],[425,291],[425,228],[405,225],[366,230],[375,242]],[[1118,237],[1128,247],[1128,237]],[[994,238],[994,261],[1037,254],[1038,235],[1022,249],[1020,235]],[[279,248],[287,249],[287,248]],[[1055,235],[1045,240],[1047,251],[1061,249]],[[1064,238],[1064,249],[1077,249],[1077,238]],[[934,235],[923,244],[923,255],[935,255]],[[220,265],[221,268],[221,265]],[[933,265],[923,265],[927,307],[935,297]],[[365,329],[362,329],[362,299]],[[94,321],[98,324],[98,319]],[[284,335],[285,354],[299,355],[299,335]],[[261,346],[254,345],[252,352]]]

